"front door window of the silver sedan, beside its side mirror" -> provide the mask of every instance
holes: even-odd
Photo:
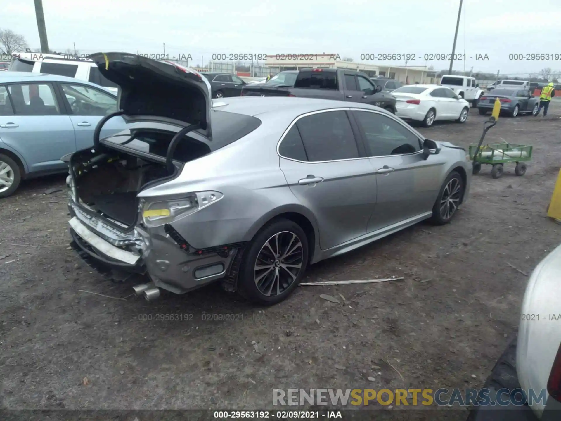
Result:
[[[353,111],[366,139],[370,157],[402,155],[421,150],[419,138],[391,118],[368,111]]]

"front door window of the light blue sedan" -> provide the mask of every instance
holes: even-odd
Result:
[[[117,111],[117,98],[91,86],[61,84],[73,115],[105,116]]]

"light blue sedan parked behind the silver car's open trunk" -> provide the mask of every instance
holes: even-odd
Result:
[[[103,116],[117,111],[117,97],[101,86],[71,77],[0,72],[0,198],[21,179],[66,172],[63,155],[93,145]],[[109,120],[102,138],[125,129]]]

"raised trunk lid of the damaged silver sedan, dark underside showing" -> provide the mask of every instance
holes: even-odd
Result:
[[[117,103],[125,117],[163,118],[185,126],[198,123],[199,131],[211,138],[211,89],[199,72],[130,53],[90,57],[102,75],[119,86]]]

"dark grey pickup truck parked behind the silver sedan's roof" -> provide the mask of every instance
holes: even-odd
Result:
[[[396,98],[380,92],[369,77],[356,70],[305,68],[298,72],[293,86],[243,86],[241,96],[304,97],[362,102],[396,113]]]

